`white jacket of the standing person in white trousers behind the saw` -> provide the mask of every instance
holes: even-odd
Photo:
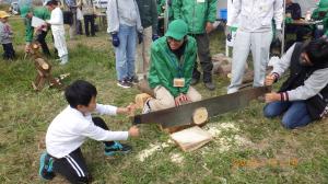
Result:
[[[283,21],[283,0],[234,0],[232,16],[227,21],[227,25],[234,25],[238,15],[238,28],[241,28],[241,31],[271,31],[273,19],[277,30],[281,30]]]

